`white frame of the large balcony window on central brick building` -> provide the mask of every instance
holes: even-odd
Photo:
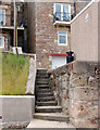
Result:
[[[60,4],[61,5],[61,21],[63,21],[63,4],[67,4],[68,5],[68,13],[71,14],[71,4],[68,3],[54,3],[53,4],[53,14],[55,14],[55,5]],[[70,21],[71,21],[71,15],[70,15]]]

